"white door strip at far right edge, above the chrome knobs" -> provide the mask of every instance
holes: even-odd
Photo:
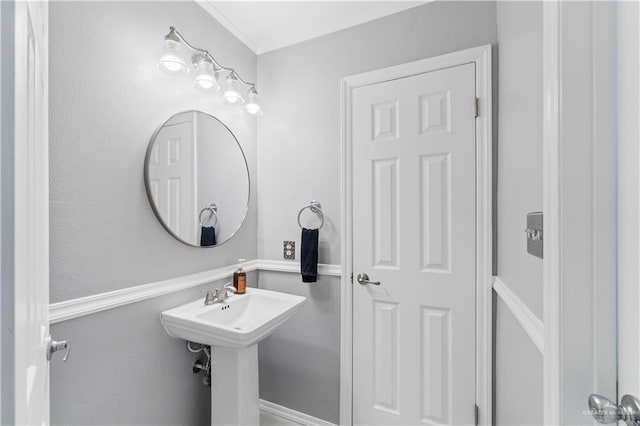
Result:
[[[618,397],[640,397],[640,5],[617,4]]]

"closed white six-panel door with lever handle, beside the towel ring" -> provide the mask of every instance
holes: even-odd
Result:
[[[352,105],[354,424],[473,424],[475,65]]]

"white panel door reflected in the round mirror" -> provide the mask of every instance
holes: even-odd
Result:
[[[199,244],[195,131],[191,121],[164,126],[149,161],[153,199],[164,222],[182,240]]]

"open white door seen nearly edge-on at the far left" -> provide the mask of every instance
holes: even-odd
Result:
[[[15,3],[15,37],[15,423],[34,425],[49,423],[46,2]]]

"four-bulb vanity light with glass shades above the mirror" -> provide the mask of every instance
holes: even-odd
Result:
[[[226,88],[222,95],[224,102],[229,105],[244,104],[247,113],[254,116],[262,115],[255,83],[243,80],[233,68],[220,65],[208,51],[189,44],[175,27],[169,27],[169,34],[164,37],[164,40],[165,46],[158,64],[160,70],[170,75],[187,74],[190,67],[184,59],[183,51],[189,50],[193,52],[191,67],[195,70],[193,85],[196,89],[218,91],[220,90],[218,78],[226,74]],[[246,104],[242,85],[248,87]]]

